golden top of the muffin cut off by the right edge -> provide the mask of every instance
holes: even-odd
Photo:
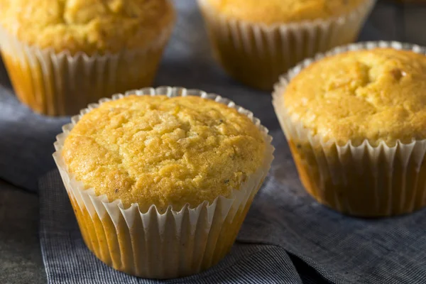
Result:
[[[302,70],[284,94],[289,114],[339,145],[426,138],[426,56],[377,48],[335,55]]]

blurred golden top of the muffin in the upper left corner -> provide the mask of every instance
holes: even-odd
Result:
[[[143,48],[174,18],[168,0],[0,0],[0,25],[8,33],[58,53]]]

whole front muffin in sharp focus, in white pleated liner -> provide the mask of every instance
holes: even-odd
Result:
[[[72,118],[54,158],[100,260],[131,275],[178,278],[231,249],[273,160],[267,133],[228,99],[147,88]]]

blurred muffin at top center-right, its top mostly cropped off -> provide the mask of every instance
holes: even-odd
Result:
[[[271,90],[302,59],[356,40],[374,0],[198,0],[214,55],[236,80]]]

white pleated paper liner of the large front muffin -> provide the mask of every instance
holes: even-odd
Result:
[[[67,171],[61,152],[68,133],[82,115],[111,99],[89,104],[79,116],[73,116],[72,123],[63,126],[63,133],[57,136],[53,157],[75,210],[84,242],[98,258],[119,271],[144,278],[176,278],[198,273],[219,262],[234,244],[253,197],[271,167],[272,137],[251,111],[217,94],[158,87],[116,94],[112,99],[129,94],[195,95],[212,99],[248,116],[265,138],[266,154],[261,168],[250,175],[239,190],[232,190],[230,197],[217,197],[210,204],[204,201],[196,208],[185,204],[180,211],[169,206],[165,212],[160,212],[155,205],[140,208],[138,204],[132,204],[124,208],[121,200],[108,200],[106,195],[95,195],[93,189],[86,190],[82,182],[75,180],[74,175]]]

